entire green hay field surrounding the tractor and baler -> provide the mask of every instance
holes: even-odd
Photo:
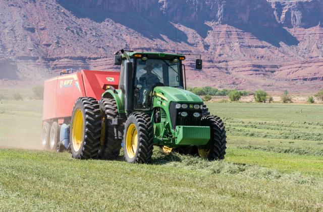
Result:
[[[0,211],[323,210],[322,106],[208,107],[226,122],[225,161],[158,148],[149,165],[3,149]],[[41,101],[0,102],[0,147],[38,144],[40,120]]]

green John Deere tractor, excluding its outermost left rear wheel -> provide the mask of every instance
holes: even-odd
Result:
[[[102,94],[99,157],[114,159],[123,143],[129,163],[149,163],[153,146],[166,153],[222,160],[226,131],[218,116],[209,115],[200,97],[186,89],[185,56],[120,50],[119,88]],[[196,60],[202,69],[202,60]]]

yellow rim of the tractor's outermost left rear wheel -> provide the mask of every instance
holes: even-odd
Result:
[[[75,152],[81,149],[83,142],[84,122],[83,113],[80,109],[76,110],[72,121],[72,143]]]

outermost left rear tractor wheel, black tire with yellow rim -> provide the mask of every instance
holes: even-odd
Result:
[[[76,131],[78,127],[74,121],[79,122],[78,127],[82,127],[78,129],[79,131]],[[101,115],[98,102],[90,97],[78,98],[74,105],[71,119],[70,142],[72,157],[76,159],[96,158],[100,146],[100,136]]]

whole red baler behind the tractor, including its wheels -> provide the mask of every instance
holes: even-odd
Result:
[[[64,140],[69,140],[69,125],[76,100],[80,97],[99,100],[107,86],[118,87],[119,76],[119,72],[82,70],[46,80],[42,117],[43,149],[68,149],[69,141],[65,143]],[[60,144],[64,146],[60,147]]]

